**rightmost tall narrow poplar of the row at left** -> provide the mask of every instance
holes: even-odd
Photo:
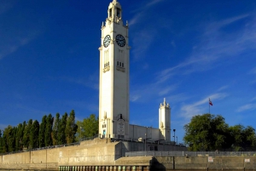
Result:
[[[67,118],[67,126],[65,129],[67,143],[75,142],[75,134],[77,133],[78,125],[75,123],[75,112],[72,110]]]

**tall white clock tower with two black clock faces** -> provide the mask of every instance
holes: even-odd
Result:
[[[129,138],[129,56],[128,22],[113,0],[108,18],[102,23],[99,79],[99,134],[102,138]]]

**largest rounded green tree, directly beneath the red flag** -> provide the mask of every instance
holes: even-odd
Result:
[[[184,129],[183,140],[189,145],[189,151],[224,150],[229,146],[229,126],[219,115],[196,115]]]

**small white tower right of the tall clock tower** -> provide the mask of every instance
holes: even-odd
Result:
[[[160,140],[171,141],[171,107],[166,103],[166,98],[159,108],[159,128]]]

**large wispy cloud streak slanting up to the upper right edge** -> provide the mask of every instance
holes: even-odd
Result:
[[[234,58],[247,49],[256,49],[256,17],[251,16],[249,24],[243,27],[238,33],[226,34],[220,31],[238,20],[249,17],[243,14],[227,20],[209,23],[202,29],[201,41],[195,45],[194,51],[186,60],[177,66],[172,66],[160,72],[162,81],[166,81],[176,74],[190,74],[195,71],[207,71],[212,69],[216,61]],[[256,72],[254,68],[253,73]]]

